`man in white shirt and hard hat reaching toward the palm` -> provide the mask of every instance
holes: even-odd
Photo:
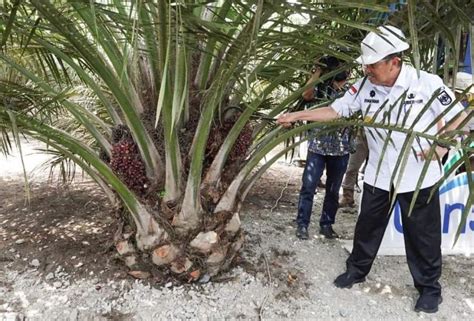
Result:
[[[361,211],[347,270],[334,284],[350,288],[365,281],[390,218],[391,197],[395,195],[402,211],[408,266],[420,294],[415,311],[434,313],[442,301],[438,282],[441,217],[434,185],[442,177],[440,160],[447,149],[412,132],[434,136],[440,130],[457,128],[466,115],[460,104],[453,104],[453,92],[438,76],[424,71],[418,74],[402,62],[401,53],[408,48],[398,28],[382,26],[377,33],[370,32],[361,43],[362,55],[357,59],[366,77],[331,106],[284,114],[278,123],[287,127],[298,120],[329,121],[361,112],[367,122],[382,125],[365,128],[369,160]],[[406,132],[386,128],[395,124],[403,125]],[[424,178],[418,186],[421,176]],[[419,193],[409,215],[417,187]]]

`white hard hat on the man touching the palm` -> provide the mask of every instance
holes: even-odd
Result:
[[[380,26],[379,31],[369,32],[360,44],[362,55],[356,59],[359,64],[374,64],[390,54],[407,50],[410,45],[405,42],[403,32],[394,26]]]

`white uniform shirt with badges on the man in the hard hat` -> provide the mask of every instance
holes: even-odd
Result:
[[[432,99],[434,93],[437,95]],[[366,120],[373,120],[375,123],[403,124],[405,128],[413,126],[413,131],[435,135],[438,132],[435,119],[446,112],[454,101],[453,92],[443,84],[441,78],[424,71],[420,71],[418,77],[415,68],[403,64],[392,87],[374,85],[369,80],[364,82],[361,79],[343,97],[333,102],[331,107],[342,117],[361,111]],[[429,102],[430,107],[421,114]],[[449,122],[462,111],[462,105],[455,104],[442,118]],[[427,139],[415,138],[408,145],[409,154],[402,172],[401,164],[404,160],[399,155],[404,150],[407,134],[391,132],[391,141],[384,149],[388,130],[366,127],[365,131],[369,146],[369,161],[364,176],[367,184],[386,191],[393,186],[398,193],[414,191],[426,162],[429,162],[429,166],[420,188],[430,187],[441,178],[442,166],[438,161],[422,161],[415,156],[417,152],[430,148],[430,141]]]

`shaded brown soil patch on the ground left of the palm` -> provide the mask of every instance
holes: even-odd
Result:
[[[34,184],[29,204],[23,182],[2,180],[0,190],[0,265],[18,271],[99,279],[126,276],[116,260],[116,220],[93,182],[74,186]]]

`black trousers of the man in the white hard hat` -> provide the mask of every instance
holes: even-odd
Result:
[[[397,195],[402,213],[403,235],[408,267],[421,295],[441,295],[441,216],[438,190],[429,200],[432,187],[419,191],[408,216],[413,192]],[[354,246],[347,259],[347,271],[366,276],[379,250],[390,219],[390,194],[364,184],[361,212],[357,220]]]

